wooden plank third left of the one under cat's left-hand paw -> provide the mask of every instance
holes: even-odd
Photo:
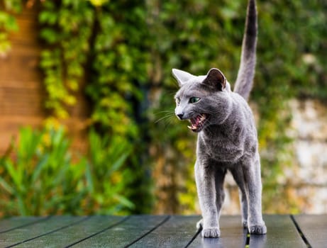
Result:
[[[121,216],[92,216],[83,222],[79,222],[77,225],[71,225],[65,229],[57,230],[57,232],[52,232],[37,239],[32,239],[18,245],[18,247],[57,248],[69,247],[74,244],[79,246],[79,242],[82,239],[90,236],[92,237],[93,235],[96,236],[96,234],[102,230],[109,230],[125,219],[126,218]],[[91,247],[93,247],[93,244]]]

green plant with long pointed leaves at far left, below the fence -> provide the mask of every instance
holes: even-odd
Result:
[[[22,128],[11,156],[1,157],[1,210],[6,215],[81,214],[85,164],[72,162],[64,130]]]

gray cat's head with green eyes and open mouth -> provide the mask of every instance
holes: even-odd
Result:
[[[194,76],[179,69],[172,69],[172,74],[180,87],[174,96],[175,114],[179,120],[190,121],[189,129],[199,133],[228,118],[231,86],[219,69],[210,69],[205,76]]]

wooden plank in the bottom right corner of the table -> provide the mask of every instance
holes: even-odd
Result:
[[[311,247],[327,247],[327,215],[294,215],[294,220]]]

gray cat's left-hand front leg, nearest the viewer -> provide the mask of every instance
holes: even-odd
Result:
[[[195,179],[203,222],[202,237],[219,237],[218,212],[216,208],[216,191],[214,173],[210,167],[196,162]],[[199,227],[199,226],[198,226]]]

